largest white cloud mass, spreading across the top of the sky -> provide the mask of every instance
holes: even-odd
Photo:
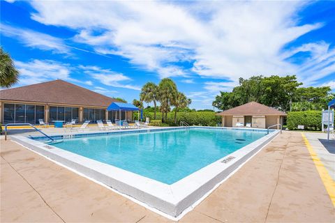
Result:
[[[298,25],[301,1],[33,1],[32,18],[78,31],[74,40],[103,54],[117,54],[163,77],[237,81],[251,75],[311,76],[285,55],[317,48],[285,45],[322,24]],[[314,43],[311,43],[313,45]],[[329,52],[327,52],[328,54]],[[194,61],[185,69],[176,63]],[[314,70],[313,70],[314,71]],[[325,70],[325,75],[327,70]]]

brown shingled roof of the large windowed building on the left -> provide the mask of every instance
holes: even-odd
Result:
[[[0,100],[108,107],[113,98],[61,79],[0,91]]]

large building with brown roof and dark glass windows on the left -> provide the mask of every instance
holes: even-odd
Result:
[[[131,112],[107,111],[114,98],[70,84],[61,79],[0,91],[0,123],[115,119],[131,121]]]

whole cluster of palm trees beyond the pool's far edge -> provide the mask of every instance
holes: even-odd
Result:
[[[174,107],[174,123],[177,123],[177,112],[179,109],[184,109],[191,105],[192,100],[177,89],[177,85],[170,78],[163,78],[159,84],[147,82],[142,86],[140,92],[140,100],[133,100],[133,104],[143,108],[143,102],[153,102],[154,104],[154,119],[156,112],[162,113],[162,122],[168,119],[168,112],[171,111],[171,106]],[[160,104],[158,107],[157,104]]]

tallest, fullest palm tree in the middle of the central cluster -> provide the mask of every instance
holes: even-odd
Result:
[[[163,78],[158,84],[158,98],[161,102],[161,112],[162,112],[162,122],[164,121],[164,112],[165,112],[165,121],[168,119],[168,109],[171,105],[171,102],[177,95],[177,86],[174,84],[172,79]]]

